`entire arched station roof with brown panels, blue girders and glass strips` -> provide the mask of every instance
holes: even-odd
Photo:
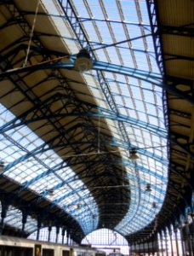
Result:
[[[0,1],[7,230],[133,242],[193,211],[193,5]]]

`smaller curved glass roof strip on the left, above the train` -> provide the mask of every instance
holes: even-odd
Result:
[[[14,118],[9,110],[0,105],[1,127]],[[84,232],[88,233],[98,223],[98,207],[94,198],[83,182],[75,179],[76,174],[69,166],[59,167],[63,161],[54,150],[32,154],[33,150],[43,143],[26,125],[6,131],[0,141],[3,152],[1,159],[6,164],[3,175],[70,213],[72,217],[77,218]],[[54,190],[54,195],[49,193],[51,190]],[[84,208],[79,207],[81,199]]]

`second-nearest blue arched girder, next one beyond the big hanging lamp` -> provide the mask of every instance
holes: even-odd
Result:
[[[31,122],[35,122],[37,120],[43,120],[43,119],[49,119],[49,118],[59,118],[59,117],[64,117],[64,108],[61,108],[58,110],[58,113],[56,114],[51,114],[46,115],[44,113],[42,113],[42,116],[40,114],[37,115],[37,112],[41,109],[41,108],[48,108],[47,106],[50,106],[50,104],[54,103],[55,101],[58,100],[66,100],[66,105],[64,105],[64,107],[67,107],[68,104],[71,104],[72,101],[75,102],[75,98],[72,96],[65,96],[65,95],[61,95],[61,94],[55,94],[54,96],[52,96],[51,99],[47,99],[45,102],[41,102],[41,104],[38,104],[38,108],[34,107],[31,108],[30,110],[28,110],[26,113],[22,114],[21,116],[15,118],[14,120],[10,121],[8,124],[4,125],[3,127],[1,127],[1,132],[5,132],[5,131],[9,131],[10,129],[14,129],[17,126],[20,126],[23,124],[23,122],[25,122],[26,125],[30,124]],[[116,114],[113,113],[110,110],[107,110],[106,108],[100,108],[98,106],[95,106],[93,104],[90,104],[88,102],[81,102],[79,101],[77,103],[79,106],[83,106],[83,108],[87,111],[84,113],[80,113],[80,111],[78,111],[77,108],[75,108],[75,110],[77,110],[76,113],[66,113],[66,116],[75,116],[75,117],[100,117],[100,118],[106,118],[106,119],[113,119],[113,120],[117,120],[117,121],[122,121],[123,123],[132,125],[132,126],[140,126],[145,130],[151,131],[154,134],[158,134],[158,135],[163,135],[163,137],[167,137],[166,135],[166,131],[164,131],[163,129],[159,129],[157,126],[155,127],[154,125],[150,125],[147,123],[144,123],[140,120],[136,120],[136,119],[128,119],[128,117],[124,116],[123,114]],[[40,108],[41,106],[41,108]],[[42,107],[43,106],[43,107]],[[96,109],[97,111],[101,112],[101,113],[93,113],[92,109]],[[61,113],[60,113],[61,112]],[[37,115],[37,116],[36,116]],[[22,121],[20,121],[20,120]],[[68,132],[67,132],[68,133]],[[64,137],[64,134],[61,135],[61,138]],[[57,138],[56,138],[57,139]],[[176,145],[179,145],[180,148],[183,148],[182,145],[178,142],[178,139],[176,139],[175,135],[172,134],[171,136],[171,140],[173,143],[175,143]],[[52,142],[51,142],[52,143]],[[68,143],[68,142],[66,142]],[[54,144],[53,144],[54,145]],[[58,144],[59,145],[59,144]],[[45,150],[44,147],[46,147],[46,143],[43,145],[42,150]],[[126,147],[128,148],[128,145],[126,145]],[[133,146],[131,145],[130,148],[133,148]],[[38,148],[37,148],[38,149]],[[185,151],[189,152],[189,154],[191,154],[191,150],[189,147],[187,148],[183,148]],[[47,149],[46,149],[47,150]],[[38,150],[36,150],[38,154]],[[144,150],[145,151],[145,150]],[[33,154],[35,152],[32,152]],[[192,154],[191,154],[192,155]],[[31,153],[28,154],[27,157],[30,157]],[[155,158],[155,155],[153,155],[153,157]],[[157,155],[156,155],[157,158]],[[24,160],[24,157],[21,157],[21,160]],[[16,163],[19,162],[20,160],[16,160]]]

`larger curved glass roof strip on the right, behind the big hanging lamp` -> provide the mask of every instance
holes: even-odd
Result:
[[[65,3],[60,5],[60,1],[56,3],[43,1],[51,19],[54,20],[61,35],[65,37],[64,41],[71,54],[76,54],[82,47],[88,47],[94,52],[97,61],[133,67],[148,73],[160,73],[154,54],[145,1],[75,0],[69,3],[73,12],[68,19]],[[82,26],[85,41],[77,39],[74,26],[71,26],[71,29],[68,26],[69,32],[65,32],[64,27],[68,20]],[[68,37],[74,41],[66,39]],[[120,44],[120,42],[124,43]],[[83,73],[83,77],[88,82],[100,107],[109,108],[105,93],[98,84],[96,72]],[[122,132],[119,132],[117,120],[108,120],[113,137],[119,140],[123,166],[128,172],[131,184],[131,203],[128,213],[116,227],[121,234],[128,235],[151,223],[162,207],[166,193],[168,160],[163,119],[163,90],[155,84],[123,76],[119,71],[118,73],[103,72],[103,77],[111,91],[111,99],[116,104],[117,113],[122,114],[126,120],[135,120],[134,125],[129,122],[125,124],[125,128],[130,146],[140,148],[139,160],[136,163],[128,163],[128,152],[123,150],[126,142],[123,140]],[[140,121],[142,121],[141,127]],[[148,125],[153,125],[155,132],[149,131]],[[159,136],[157,132],[160,129],[164,131],[163,136]],[[147,183],[151,184],[151,193],[145,191]],[[156,208],[153,208],[152,205],[155,202]]]

